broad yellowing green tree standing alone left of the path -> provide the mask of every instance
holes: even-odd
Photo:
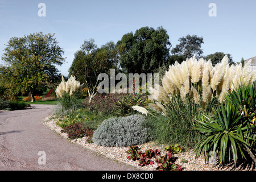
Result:
[[[14,95],[30,92],[34,102],[36,89],[60,77],[55,65],[63,64],[64,51],[53,36],[39,32],[11,38],[6,44],[2,57],[6,66],[2,66],[1,72],[8,78],[7,85]]]

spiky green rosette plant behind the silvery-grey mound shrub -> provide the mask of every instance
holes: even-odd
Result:
[[[118,116],[125,116],[130,114],[136,114],[133,110],[133,106],[146,106],[146,96],[144,94],[127,94],[121,100],[118,100],[115,104],[114,113]]]

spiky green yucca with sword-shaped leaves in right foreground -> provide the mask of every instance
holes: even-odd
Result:
[[[220,163],[226,164],[233,159],[236,166],[238,159],[251,155],[251,146],[246,142],[254,126],[251,126],[241,114],[240,106],[225,101],[214,109],[213,117],[202,114],[196,129],[204,134],[195,148],[196,158],[204,153],[205,162],[209,160],[209,152],[219,156]],[[251,133],[250,133],[251,134]]]

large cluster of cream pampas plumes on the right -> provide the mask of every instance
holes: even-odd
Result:
[[[250,71],[250,63],[246,63],[245,67],[241,63],[229,65],[228,56],[224,56],[214,67],[210,60],[197,60],[195,56],[180,64],[176,61],[163,76],[163,87],[153,89],[150,98],[163,104],[177,95],[184,100],[192,93],[191,99],[196,104],[207,104],[214,98],[221,103],[228,91],[256,80],[256,71]]]

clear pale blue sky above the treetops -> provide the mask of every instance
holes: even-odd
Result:
[[[41,2],[46,4],[45,17],[38,16]],[[216,17],[208,15],[209,3],[216,3]],[[0,55],[14,36],[55,33],[67,57],[58,69],[67,76],[73,54],[85,39],[94,38],[100,47],[141,27],[163,26],[172,47],[182,36],[202,36],[203,55],[230,53],[237,62],[256,56],[255,8],[255,0],[0,0]]]

